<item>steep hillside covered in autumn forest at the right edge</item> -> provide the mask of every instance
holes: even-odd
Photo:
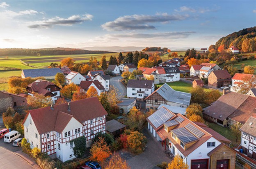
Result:
[[[244,40],[249,39],[248,43],[254,43],[256,41],[256,27],[242,29],[238,32],[233,32],[228,36],[220,38],[216,44],[215,48],[217,49],[220,45],[224,45],[224,49],[228,49],[230,46],[235,46],[239,50],[242,50],[242,43]],[[246,51],[250,52],[250,51]]]

